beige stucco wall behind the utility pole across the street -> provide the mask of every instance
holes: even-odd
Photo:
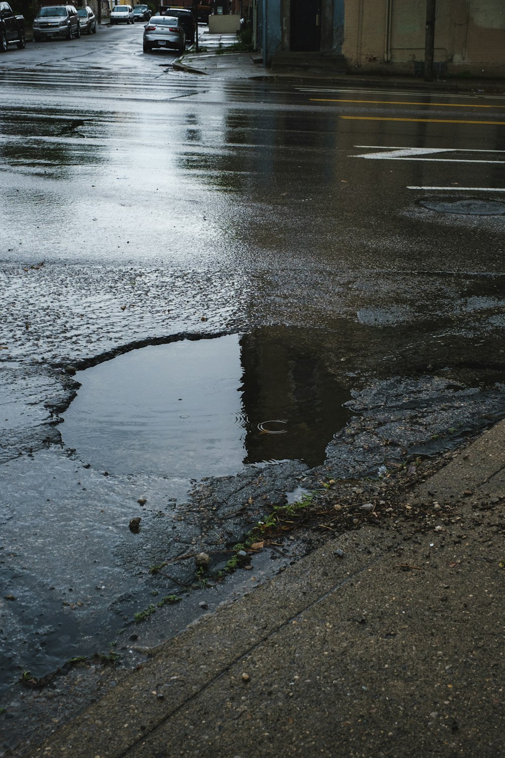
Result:
[[[348,69],[412,74],[425,31],[426,0],[346,0]],[[453,75],[505,76],[505,0],[438,0],[435,61]]]

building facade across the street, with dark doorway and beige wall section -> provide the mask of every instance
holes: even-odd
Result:
[[[296,52],[343,54],[349,73],[420,74],[426,0],[258,0],[267,60]],[[505,76],[505,0],[437,0],[435,72]]]

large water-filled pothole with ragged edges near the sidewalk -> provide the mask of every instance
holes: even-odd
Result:
[[[299,337],[263,329],[181,340],[79,371],[64,443],[117,474],[201,478],[248,463],[323,463],[349,418],[349,394]]]

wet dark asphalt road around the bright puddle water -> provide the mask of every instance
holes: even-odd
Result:
[[[236,541],[257,518],[251,506],[216,536],[189,478],[114,471],[105,448],[102,466],[83,468],[59,424],[75,368],[240,334],[254,428],[290,393],[298,409],[320,402],[324,384],[332,412],[353,397],[370,428],[400,429],[408,396],[416,434],[398,433],[398,455],[503,413],[505,99],[213,79],[173,70],[173,57],[143,55],[136,25],[0,58],[7,685],[106,648],[168,591],[149,565]],[[349,413],[337,416],[335,432]],[[250,435],[249,453],[259,444]],[[360,471],[359,440],[348,457],[338,445],[332,470]],[[263,455],[284,459],[285,447]],[[273,468],[270,500],[304,470]],[[211,507],[243,506],[256,476],[214,484]]]

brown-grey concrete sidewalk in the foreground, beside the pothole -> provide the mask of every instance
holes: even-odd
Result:
[[[205,616],[33,756],[503,755],[505,421],[405,503]],[[337,552],[338,551],[338,552]]]

